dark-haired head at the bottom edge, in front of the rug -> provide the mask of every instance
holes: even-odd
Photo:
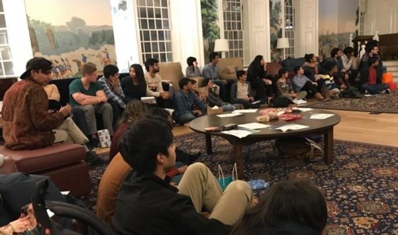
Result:
[[[286,180],[267,190],[231,235],[320,235],[326,221],[326,202],[319,189],[309,181]]]

